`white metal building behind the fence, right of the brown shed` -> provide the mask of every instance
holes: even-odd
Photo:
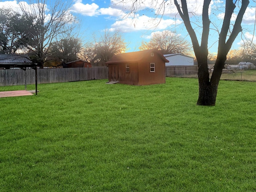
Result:
[[[167,54],[164,57],[169,60],[168,63],[165,63],[165,66],[194,65],[194,58],[183,54]]]

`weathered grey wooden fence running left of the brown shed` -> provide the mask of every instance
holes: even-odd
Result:
[[[108,79],[107,67],[92,68],[54,68],[38,69],[37,81],[42,83],[60,83],[84,81],[93,79]],[[26,84],[35,83],[35,70],[26,70]],[[24,85],[25,71],[22,69],[0,70],[0,86]]]

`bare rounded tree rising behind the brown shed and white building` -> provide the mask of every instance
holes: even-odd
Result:
[[[190,45],[184,38],[174,32],[164,30],[152,33],[149,42],[142,42],[140,50],[157,49],[162,54],[180,53],[187,55],[190,52]]]

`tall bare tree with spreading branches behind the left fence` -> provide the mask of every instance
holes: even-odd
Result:
[[[74,16],[69,13],[72,1],[28,0],[29,6],[21,0],[18,2],[27,36],[24,45],[34,62],[42,68],[54,39],[72,30],[75,23]]]

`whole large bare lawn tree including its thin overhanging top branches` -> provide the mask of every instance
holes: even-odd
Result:
[[[119,2],[115,1],[115,4],[123,4],[125,5],[127,2],[125,0],[120,0]],[[149,11],[152,9],[156,10],[155,17],[160,16],[162,18],[164,16],[164,11],[168,6],[171,6],[172,2],[168,0],[162,1],[154,1],[146,2],[146,0],[132,0],[128,1],[130,6],[130,11],[128,14],[132,13],[135,15],[142,7],[145,5],[151,6],[148,8]],[[147,4],[146,4],[147,3]],[[182,18],[186,30],[191,38],[194,53],[196,59],[198,61],[198,84],[199,84],[199,95],[198,95],[198,105],[206,105],[213,106],[216,102],[217,90],[220,81],[220,76],[222,74],[222,69],[224,68],[224,64],[226,61],[226,56],[235,40],[237,35],[242,31],[241,23],[246,8],[248,7],[249,0],[226,0],[223,4],[225,7],[224,10],[224,19],[222,22],[222,28],[219,34],[218,40],[218,54],[216,58],[216,62],[214,65],[214,70],[212,72],[212,76],[210,78],[208,71],[208,39],[210,32],[210,18],[209,18],[209,10],[210,10],[211,0],[204,0],[204,4],[202,7],[201,19],[197,20],[197,24],[191,22],[190,20],[190,12],[188,11],[187,0],[174,0],[174,4],[178,10],[180,17]],[[157,6],[157,7],[154,7]],[[231,22],[232,15],[235,13],[236,9],[236,18],[235,22]],[[196,11],[196,10],[195,10]],[[194,14],[197,18],[200,17],[198,14]],[[198,29],[195,30],[193,25],[197,27],[201,25],[202,22],[202,32],[200,33]],[[197,37],[201,35],[200,38]],[[201,42],[199,43],[199,40]]]

